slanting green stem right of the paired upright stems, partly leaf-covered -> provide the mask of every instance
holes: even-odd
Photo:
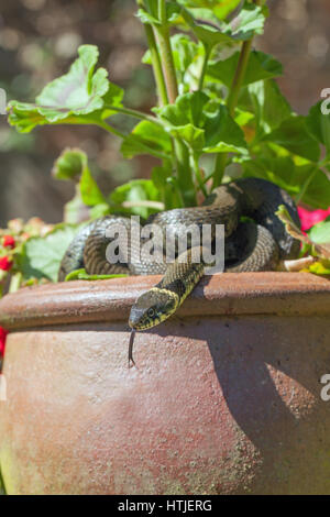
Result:
[[[256,6],[260,6],[261,1],[262,0],[253,0],[253,3],[255,3]],[[240,91],[241,91],[244,76],[246,73],[249,57],[250,57],[250,53],[252,48],[252,41],[253,41],[253,37],[251,37],[251,40],[246,42],[243,42],[242,44],[238,67],[237,67],[235,75],[233,77],[232,85],[230,87],[229,95],[227,98],[227,107],[231,117],[234,116],[235,107],[238,106],[239,96],[240,96]],[[226,164],[227,164],[227,158],[228,158],[228,153],[218,154],[216,158],[216,168],[213,173],[213,188],[218,187],[222,182],[224,169],[226,169]]]

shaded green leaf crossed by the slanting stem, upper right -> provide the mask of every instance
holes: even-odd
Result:
[[[220,80],[229,88],[232,85],[238,68],[239,57],[240,53],[235,52],[228,59],[210,63],[207,72],[208,76],[212,79]],[[278,77],[282,73],[283,68],[280,63],[273,56],[260,51],[253,51],[249,57],[242,86],[272,77]]]

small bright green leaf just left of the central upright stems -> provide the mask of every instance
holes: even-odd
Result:
[[[125,158],[132,158],[138,154],[166,158],[172,153],[170,138],[161,125],[142,121],[125,138],[121,152]]]

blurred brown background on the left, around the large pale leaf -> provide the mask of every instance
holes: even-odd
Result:
[[[33,100],[41,87],[68,68],[78,46],[86,42],[98,45],[100,64],[111,80],[125,88],[127,102],[148,110],[155,101],[152,73],[147,66],[141,67],[146,47],[135,11],[132,0],[1,2],[0,87],[8,100]],[[132,121],[125,119],[124,123],[129,131]],[[2,117],[0,226],[13,217],[26,219],[35,213],[53,222],[63,219],[63,205],[72,198],[74,187],[54,182],[50,172],[64,147],[77,145],[88,154],[105,191],[138,175],[147,177],[156,164],[147,156],[123,160],[120,142],[98,128],[46,128],[20,135]]]

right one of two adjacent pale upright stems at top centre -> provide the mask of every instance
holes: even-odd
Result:
[[[169,38],[169,28],[166,16],[166,1],[158,0],[158,19],[161,25],[155,25],[155,31],[157,33],[157,40],[161,51],[161,58],[163,63],[163,73],[165,76],[165,82],[167,88],[168,101],[170,103],[175,102],[175,99],[178,96],[177,80],[176,80],[176,70],[174,66],[170,38]]]

